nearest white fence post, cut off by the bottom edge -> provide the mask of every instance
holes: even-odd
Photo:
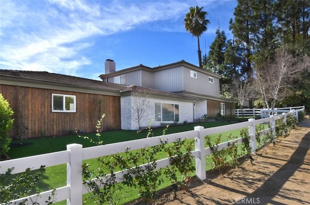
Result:
[[[67,185],[70,186],[70,198],[67,205],[82,205],[82,145],[67,144],[70,152],[69,162],[67,163]]]

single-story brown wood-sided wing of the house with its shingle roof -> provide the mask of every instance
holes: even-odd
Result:
[[[39,71],[0,70],[0,93],[14,111],[10,137],[58,136],[80,130],[121,129],[121,93],[126,86]]]

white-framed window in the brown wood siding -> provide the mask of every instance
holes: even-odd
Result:
[[[76,95],[52,94],[52,112],[76,112]]]

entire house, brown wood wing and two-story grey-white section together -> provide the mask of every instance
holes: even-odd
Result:
[[[0,93],[15,112],[12,138],[57,136],[74,131],[139,129],[234,115],[219,96],[220,76],[185,61],[116,71],[107,60],[102,81],[40,71],[0,70]],[[139,104],[144,102],[142,104]],[[136,108],[144,107],[137,117]]]

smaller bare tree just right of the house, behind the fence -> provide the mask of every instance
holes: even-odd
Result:
[[[232,94],[234,100],[240,106],[242,117],[243,117],[243,103],[251,94],[251,87],[248,79],[241,80],[238,78],[232,81]]]

